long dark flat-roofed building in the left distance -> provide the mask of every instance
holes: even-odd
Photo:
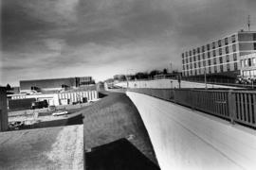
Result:
[[[20,92],[29,93],[31,90],[60,91],[64,88],[75,89],[90,84],[95,84],[91,76],[21,80]]]

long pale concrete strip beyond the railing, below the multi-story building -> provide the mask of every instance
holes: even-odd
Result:
[[[172,81],[172,83],[171,83]],[[127,82],[119,82],[116,85],[120,87],[126,87]],[[155,79],[155,80],[137,80],[129,81],[129,88],[178,88],[178,82],[174,79]],[[181,81],[181,88],[205,88],[204,83],[196,83],[190,81]],[[214,85],[208,84],[208,88],[229,88],[229,89],[238,89],[230,86]]]

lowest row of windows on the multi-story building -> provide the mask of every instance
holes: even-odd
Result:
[[[227,72],[230,71],[230,64],[232,63],[227,63],[226,65],[226,70]],[[233,62],[233,71],[238,70],[237,67],[237,62]],[[217,65],[215,66],[211,66],[208,69],[195,69],[195,70],[188,70],[188,71],[184,71],[183,75],[184,76],[197,76],[197,75],[203,75],[203,74],[212,74],[212,73],[223,73],[224,72],[224,64],[219,65],[219,70]]]

